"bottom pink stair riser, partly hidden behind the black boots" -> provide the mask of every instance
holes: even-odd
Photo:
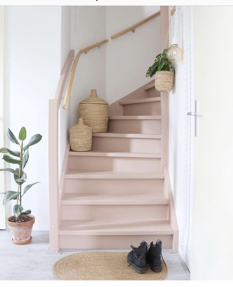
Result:
[[[172,248],[173,235],[60,235],[61,249],[130,249],[142,240],[148,244],[160,239],[163,249]]]

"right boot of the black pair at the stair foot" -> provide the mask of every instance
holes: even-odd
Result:
[[[151,244],[148,246],[148,250],[146,252],[146,262],[150,265],[150,268],[154,272],[161,272],[162,271],[162,241],[157,240],[156,244]],[[164,259],[163,259],[164,261]],[[165,262],[164,262],[165,263]],[[166,263],[165,263],[166,265]]]

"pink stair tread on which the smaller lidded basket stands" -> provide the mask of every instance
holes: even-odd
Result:
[[[110,156],[110,157],[161,158],[161,153],[130,152],[130,151],[104,151],[104,150],[69,151],[69,155],[71,155],[71,156]]]

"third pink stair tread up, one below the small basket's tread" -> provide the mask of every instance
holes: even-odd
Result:
[[[66,179],[164,179],[163,174],[69,169]]]

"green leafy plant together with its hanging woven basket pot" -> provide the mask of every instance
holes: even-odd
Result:
[[[146,72],[146,77],[152,77],[155,74],[155,88],[160,92],[170,91],[174,82],[174,64],[167,59],[167,50],[164,49],[155,57],[155,63]]]

